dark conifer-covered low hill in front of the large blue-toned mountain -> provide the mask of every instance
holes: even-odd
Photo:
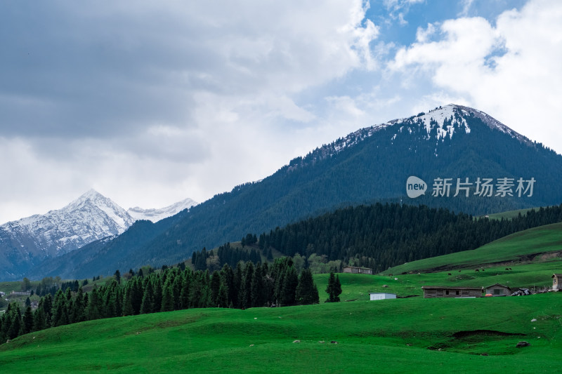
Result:
[[[324,256],[325,261],[341,260],[381,272],[404,262],[469,251],[514,232],[554,222],[562,222],[562,205],[531,210],[511,220],[490,220],[443,208],[376,203],[277,227],[259,236],[259,247],[264,255],[275,248],[289,256]],[[217,256],[207,265],[228,263],[226,254],[214,254]],[[209,252],[193,256],[204,264],[202,257],[209,258]]]

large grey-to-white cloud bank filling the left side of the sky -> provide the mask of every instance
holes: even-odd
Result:
[[[379,66],[368,7],[62,1],[37,4],[37,20],[4,9],[13,32],[0,35],[0,166],[13,185],[0,185],[10,196],[0,221],[60,208],[91,187],[149,208],[273,173],[323,121],[325,100],[306,92]]]

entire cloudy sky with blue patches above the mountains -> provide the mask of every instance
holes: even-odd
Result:
[[[4,0],[0,223],[204,201],[454,102],[562,153],[559,0]]]

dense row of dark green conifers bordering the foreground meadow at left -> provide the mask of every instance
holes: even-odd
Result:
[[[131,271],[130,271],[131,272]],[[163,267],[161,272],[132,275],[121,283],[119,272],[103,286],[84,293],[66,287],[46,293],[34,311],[22,313],[11,302],[0,316],[0,342],[45,328],[93,319],[179,309],[222,307],[285,307],[318,304],[318,288],[309,269],[297,272],[292,258],[268,262],[226,264],[219,271]],[[74,282],[72,282],[74,285]],[[341,292],[341,290],[340,290]]]

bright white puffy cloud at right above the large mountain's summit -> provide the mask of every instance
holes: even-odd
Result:
[[[420,69],[434,90],[495,116],[507,126],[561,152],[562,3],[529,1],[506,11],[496,25],[483,18],[447,20],[429,41],[401,48],[391,71],[412,76]],[[419,79],[419,78],[418,78]],[[445,102],[446,103],[446,102]]]

